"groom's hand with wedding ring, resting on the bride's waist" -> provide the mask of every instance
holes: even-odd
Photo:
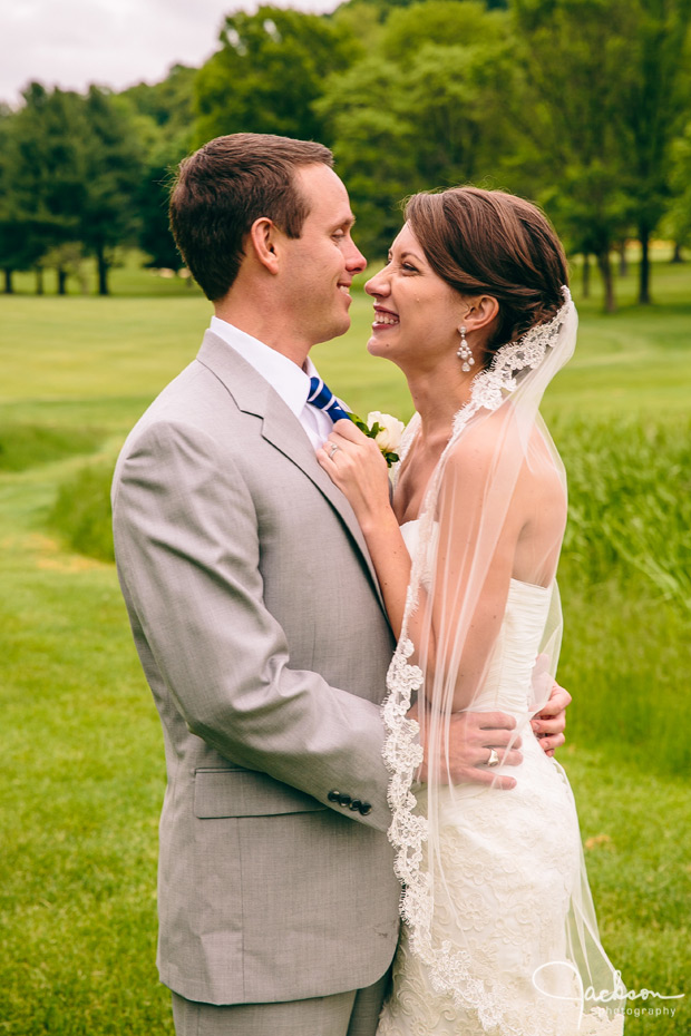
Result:
[[[545,706],[547,707],[547,706]],[[418,706],[408,712],[410,720],[418,720]],[[503,712],[458,712],[450,719],[448,763],[444,746],[429,758],[429,745],[425,744],[425,760],[418,770],[417,780],[426,783],[430,772],[436,772],[441,783],[493,784],[495,788],[516,786],[514,778],[495,773],[487,763],[494,749],[500,765],[517,766],[523,762],[518,751],[520,737],[516,736],[516,721]]]

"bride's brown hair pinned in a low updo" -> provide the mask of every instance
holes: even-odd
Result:
[[[505,342],[549,320],[564,303],[566,256],[546,216],[503,190],[450,187],[413,195],[406,219],[435,273],[461,295],[499,303],[486,363]]]

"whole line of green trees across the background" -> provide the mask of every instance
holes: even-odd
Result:
[[[691,0],[348,0],[332,14],[228,14],[199,68],[86,94],[30,84],[0,108],[0,268],[93,256],[98,291],[123,246],[179,265],[166,187],[185,154],[252,130],[333,148],[366,254],[386,253],[400,199],[476,183],[542,204],[615,306],[612,256],[691,241]]]

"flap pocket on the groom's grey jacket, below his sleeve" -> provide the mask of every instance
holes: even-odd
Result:
[[[311,795],[257,770],[201,769],[194,773],[194,814],[199,820],[272,817],[325,809]]]

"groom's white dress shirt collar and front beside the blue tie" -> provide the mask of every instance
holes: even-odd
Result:
[[[279,393],[302,424],[314,449],[322,446],[333,428],[333,422],[323,410],[308,404],[310,378],[319,378],[310,358],[308,356],[302,370],[288,356],[218,316],[212,316],[211,330],[240,353]]]

